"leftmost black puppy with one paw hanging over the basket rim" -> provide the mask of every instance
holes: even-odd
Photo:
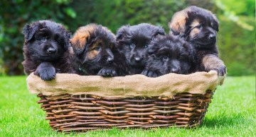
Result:
[[[22,62],[26,74],[35,72],[45,81],[55,78],[56,73],[70,73],[68,45],[70,33],[63,25],[50,20],[39,20],[25,25],[22,33]]]

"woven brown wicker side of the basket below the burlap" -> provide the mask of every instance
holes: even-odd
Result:
[[[38,103],[56,131],[193,127],[203,121],[213,93],[214,90],[206,90],[203,94],[183,92],[172,97],[102,97],[86,92],[79,95],[41,92]]]

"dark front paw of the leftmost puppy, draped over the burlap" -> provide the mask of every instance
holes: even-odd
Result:
[[[35,71],[35,75],[40,76],[40,78],[44,81],[50,81],[56,76],[55,68],[39,68]]]

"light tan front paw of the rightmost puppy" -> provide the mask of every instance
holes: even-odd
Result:
[[[203,67],[206,71],[214,70],[225,66],[224,62],[213,54],[208,54],[203,57]]]

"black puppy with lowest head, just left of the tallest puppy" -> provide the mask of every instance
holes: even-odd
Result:
[[[149,57],[143,75],[162,76],[167,73],[187,74],[194,63],[194,49],[178,36],[156,37],[147,50]]]

